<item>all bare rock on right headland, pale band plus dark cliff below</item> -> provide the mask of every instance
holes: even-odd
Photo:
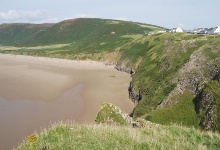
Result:
[[[218,101],[220,85],[220,58],[210,60],[205,55],[207,45],[196,50],[189,61],[178,71],[173,82],[177,87],[158,106],[164,108],[179,102],[176,95],[190,93],[195,96],[195,111],[200,119],[199,126],[203,130],[219,130]],[[220,52],[218,50],[218,52]],[[212,83],[215,82],[213,87]],[[214,94],[217,93],[217,94]],[[220,130],[219,130],[220,131]]]

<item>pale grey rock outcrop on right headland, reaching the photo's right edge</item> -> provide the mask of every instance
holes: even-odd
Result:
[[[177,84],[176,88],[171,91],[169,96],[163,100],[161,106],[175,104],[172,97],[190,92],[195,97],[200,94],[204,84],[210,80],[219,80],[220,78],[220,58],[209,61],[204,55],[206,46],[195,51],[189,61],[178,71],[177,77],[173,80]]]

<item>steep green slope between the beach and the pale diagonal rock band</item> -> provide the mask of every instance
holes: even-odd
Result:
[[[189,56],[199,48],[189,48],[183,52],[181,41],[184,38],[193,39],[197,36],[186,34],[163,34],[148,37],[145,59],[137,70],[134,84],[139,86],[144,100],[139,104],[136,113],[138,116],[152,111],[176,86],[172,79],[176,72],[189,59]],[[142,107],[143,106],[143,107]]]

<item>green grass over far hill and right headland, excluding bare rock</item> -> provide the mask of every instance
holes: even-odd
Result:
[[[2,28],[3,25],[0,26],[0,31]],[[8,37],[1,37],[0,44],[8,47],[0,46],[0,52],[67,59],[93,59],[133,67],[136,73],[132,84],[139,87],[143,95],[134,110],[135,117],[142,116],[157,123],[176,122],[198,127],[199,117],[196,116],[192,102],[195,95],[187,90],[183,95],[174,97],[178,99],[177,104],[167,108],[156,108],[177,86],[174,79],[177,78],[178,71],[195,51],[205,46],[203,55],[209,61],[220,57],[220,36],[184,33],[146,35],[149,31],[159,29],[156,26],[115,20],[67,20],[41,29],[33,35],[28,34],[27,38],[19,38],[19,44],[14,44],[13,40],[10,43]],[[16,35],[23,37],[26,34],[19,32]],[[12,37],[16,39],[16,36]],[[219,96],[215,95],[219,101]],[[219,109],[218,116],[220,116]]]

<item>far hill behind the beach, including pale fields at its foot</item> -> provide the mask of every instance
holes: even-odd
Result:
[[[11,26],[21,28],[24,25],[14,24]],[[153,25],[126,21],[74,19],[62,21],[47,28],[41,28],[32,35],[28,35],[30,32],[28,29],[23,29],[23,32],[18,33],[17,31],[12,31],[18,37],[26,37],[17,41],[16,37],[8,36],[11,35],[10,28],[5,29],[5,25],[0,25],[0,33],[2,35],[0,37],[0,45],[2,47],[14,46],[16,51],[13,51],[13,48],[8,49],[10,51],[6,51],[1,47],[0,49],[5,50],[5,53],[68,59],[86,59],[89,57],[98,60],[104,57],[102,53],[116,51],[118,54],[120,47],[124,47],[135,39],[141,38],[150,31],[160,29],[161,27]],[[4,34],[2,34],[1,30],[5,31]],[[33,30],[31,31],[34,32]],[[56,47],[61,44],[63,44],[61,47]],[[41,47],[37,48],[36,51],[37,46]]]

